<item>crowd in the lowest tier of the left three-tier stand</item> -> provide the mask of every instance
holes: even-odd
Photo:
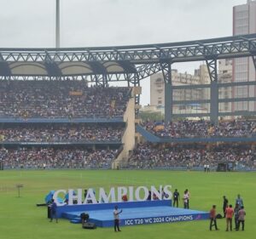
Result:
[[[0,149],[3,168],[111,168],[117,150],[83,148]]]

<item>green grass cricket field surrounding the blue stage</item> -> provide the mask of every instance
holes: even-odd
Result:
[[[24,185],[20,197],[15,187]],[[121,228],[83,230],[66,219],[49,223],[44,202],[50,190],[97,188],[119,185],[172,185],[181,193],[190,191],[190,208],[207,210],[212,204],[222,212],[222,196],[234,205],[237,193],[247,211],[245,231],[225,231],[225,220],[218,219],[219,231],[209,231],[209,221],[137,225]],[[0,171],[0,238],[3,239],[79,239],[79,238],[255,238],[256,173],[210,173],[175,171]],[[182,204],[182,203],[181,203]],[[254,236],[253,236],[254,235]]]

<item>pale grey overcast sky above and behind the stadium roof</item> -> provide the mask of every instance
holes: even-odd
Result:
[[[232,35],[247,0],[60,0],[61,47],[172,43]],[[0,48],[55,47],[55,0],[0,0]],[[192,72],[200,63],[176,64]],[[143,80],[142,104],[149,103]]]

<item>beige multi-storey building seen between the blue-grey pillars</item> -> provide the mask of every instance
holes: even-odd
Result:
[[[207,65],[200,65],[195,70],[194,75],[179,73],[172,70],[172,85],[196,85],[210,83]],[[207,88],[186,88],[174,89],[173,100],[209,100],[209,89]],[[154,74],[150,77],[150,105],[156,106],[164,111],[165,107],[165,82],[162,73]],[[186,104],[173,105],[173,113],[201,113],[208,112],[208,104]]]

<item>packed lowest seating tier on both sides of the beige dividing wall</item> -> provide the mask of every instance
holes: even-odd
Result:
[[[14,143],[0,144],[3,169],[113,168],[123,150],[122,145],[73,144],[57,142],[49,145]],[[218,169],[219,163],[231,164],[227,171],[256,170],[254,144],[137,144],[127,160],[117,162],[129,169]],[[230,167],[229,167],[230,168]]]

